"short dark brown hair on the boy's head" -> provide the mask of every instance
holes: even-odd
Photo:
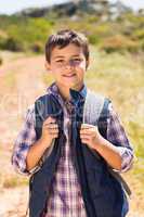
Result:
[[[51,62],[51,53],[55,47],[60,49],[66,47],[69,43],[74,43],[82,48],[86,60],[89,60],[89,43],[83,34],[77,33],[70,29],[63,29],[54,35],[51,35],[45,43],[45,60]]]

